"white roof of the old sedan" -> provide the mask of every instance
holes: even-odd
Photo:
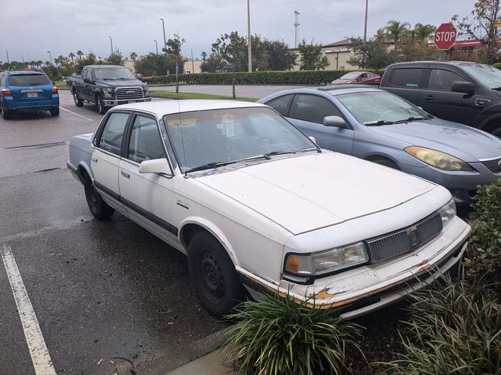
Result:
[[[138,110],[154,113],[157,117],[171,115],[173,113],[193,112],[198,110],[218,110],[228,108],[255,108],[267,107],[261,103],[234,100],[211,100],[211,99],[182,99],[182,100],[157,100],[142,103],[122,104],[113,107],[113,110]]]

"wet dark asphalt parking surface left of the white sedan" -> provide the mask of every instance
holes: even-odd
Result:
[[[24,285],[57,374],[164,374],[227,326],[201,308],[182,254],[119,214],[90,215],[67,142],[100,119],[65,91],[59,117],[0,119],[0,250],[20,277],[0,263],[0,374],[35,374],[11,284]]]

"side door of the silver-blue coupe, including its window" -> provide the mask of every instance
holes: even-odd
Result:
[[[324,117],[340,116],[340,110],[328,99],[315,94],[296,94],[292,99],[288,119],[306,135],[315,137],[324,149],[351,155],[353,129],[324,126]]]

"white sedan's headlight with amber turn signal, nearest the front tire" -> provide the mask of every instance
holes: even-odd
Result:
[[[299,278],[315,278],[341,269],[367,263],[369,257],[363,242],[308,255],[287,254],[285,273]]]

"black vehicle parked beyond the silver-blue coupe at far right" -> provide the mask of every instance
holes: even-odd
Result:
[[[479,63],[417,61],[390,65],[379,87],[431,115],[501,138],[501,71]]]

